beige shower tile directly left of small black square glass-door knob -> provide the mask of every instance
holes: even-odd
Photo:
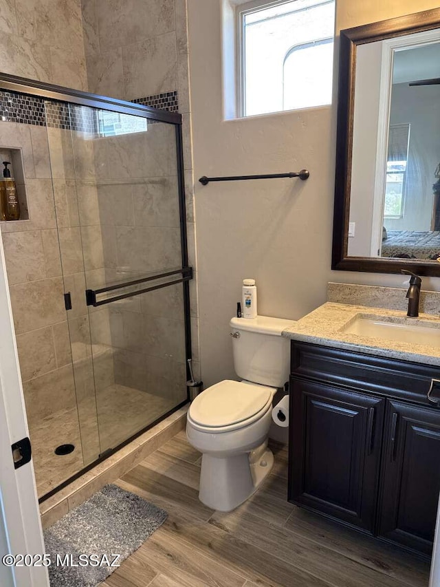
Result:
[[[10,286],[10,296],[17,334],[66,319],[61,277]]]

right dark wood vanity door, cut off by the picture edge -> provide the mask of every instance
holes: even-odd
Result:
[[[440,410],[388,401],[379,532],[430,554],[440,491]]]

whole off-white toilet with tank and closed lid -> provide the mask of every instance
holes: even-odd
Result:
[[[267,316],[232,318],[234,370],[242,381],[220,381],[190,405],[186,436],[202,453],[199,499],[212,509],[236,508],[272,469],[272,400],[289,381],[289,339],[281,333],[293,324]]]

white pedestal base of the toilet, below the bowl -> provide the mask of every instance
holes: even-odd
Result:
[[[250,498],[273,465],[267,441],[250,453],[228,458],[203,453],[199,500],[212,509],[231,511]]]

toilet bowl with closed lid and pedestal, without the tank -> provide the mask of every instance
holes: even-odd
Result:
[[[199,499],[203,504],[231,511],[270,473],[274,456],[267,448],[267,434],[275,392],[274,387],[225,380],[192,402],[186,436],[202,453]]]

